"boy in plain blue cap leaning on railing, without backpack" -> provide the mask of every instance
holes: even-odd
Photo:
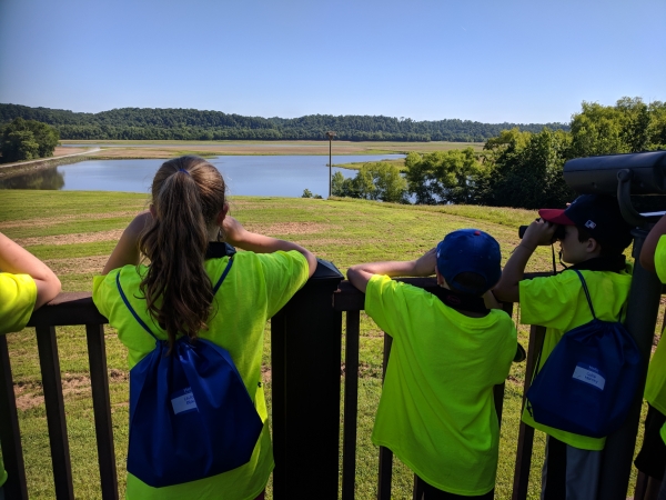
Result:
[[[516,330],[490,289],[500,244],[454,231],[414,261],[357,264],[365,311],[393,338],[372,440],[424,482],[425,500],[492,499],[500,430],[493,387],[516,353]],[[391,277],[437,277],[434,293]],[[485,299],[485,300],[484,300]]]

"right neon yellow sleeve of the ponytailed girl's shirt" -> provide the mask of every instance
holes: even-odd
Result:
[[[268,296],[269,318],[273,317],[307,281],[307,259],[291,250],[258,253]]]

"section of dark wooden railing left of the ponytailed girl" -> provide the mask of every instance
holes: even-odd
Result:
[[[70,324],[85,326],[102,498],[104,500],[118,498],[104,323],[108,323],[107,318],[99,313],[92,303],[90,293],[61,293],[49,304],[36,311],[28,323],[29,327],[34,327],[37,334],[51,446],[51,463],[58,499],[74,498],[56,337],[56,327]],[[28,499],[21,434],[4,336],[0,336],[0,442],[2,443],[4,468],[9,472],[4,484],[6,498]]]

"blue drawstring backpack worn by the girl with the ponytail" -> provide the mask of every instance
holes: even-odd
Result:
[[[216,293],[233,257],[215,284]],[[130,370],[128,472],[153,488],[215,476],[248,463],[263,422],[229,352],[186,336],[159,340],[139,318],[115,278],[134,319],[155,348]]]

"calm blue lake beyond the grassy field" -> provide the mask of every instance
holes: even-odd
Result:
[[[335,163],[380,161],[404,154],[349,154]],[[0,189],[149,192],[158,168],[165,160],[89,160],[0,179]],[[329,196],[329,157],[222,156],[208,159],[224,177],[230,196],[300,197],[304,189]],[[345,178],[355,170],[333,168]]]

